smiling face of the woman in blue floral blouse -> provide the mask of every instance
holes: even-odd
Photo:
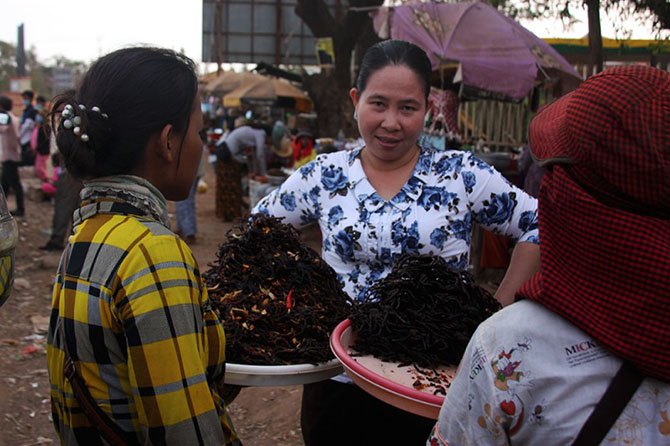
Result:
[[[351,90],[365,150],[383,162],[406,155],[419,139],[426,95],[419,77],[406,65],[387,65],[370,75],[362,92]]]

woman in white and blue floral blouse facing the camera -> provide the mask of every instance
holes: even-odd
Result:
[[[467,152],[419,145],[431,70],[423,50],[408,42],[371,47],[351,90],[365,146],[317,157],[255,211],[296,226],[318,222],[323,257],[354,299],[388,274],[403,253],[440,255],[465,269],[477,222],[520,242],[496,293],[509,304],[539,266],[537,203]],[[351,429],[369,437],[342,438],[346,434],[334,420],[342,420],[345,411],[348,425],[363,423]],[[307,446],[420,444],[432,424],[335,381],[305,386],[302,418]]]

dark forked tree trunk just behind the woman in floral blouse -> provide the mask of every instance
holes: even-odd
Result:
[[[383,0],[350,0],[350,6],[380,6]],[[353,120],[354,108],[349,98],[353,82],[350,74],[354,48],[365,51],[372,39],[372,19],[366,11],[347,10],[333,14],[323,0],[298,0],[296,14],[305,22],[315,37],[332,37],[335,67],[321,73],[305,76],[303,87],[314,102],[317,113],[317,134],[336,137],[342,130],[348,137],[357,135]],[[361,39],[364,36],[365,39]],[[367,46],[361,45],[365,42]],[[364,46],[364,48],[362,47]]]

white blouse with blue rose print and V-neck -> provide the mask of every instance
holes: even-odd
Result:
[[[361,150],[318,156],[253,210],[297,227],[318,222],[322,256],[352,298],[363,298],[403,253],[440,255],[466,269],[474,222],[539,243],[537,201],[472,154],[423,147],[410,179],[384,201]]]

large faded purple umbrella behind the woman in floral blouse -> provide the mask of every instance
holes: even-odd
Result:
[[[380,35],[390,25],[391,38],[423,48],[433,69],[459,62],[468,87],[520,100],[533,88],[538,66],[579,77],[549,44],[486,3],[409,4],[373,18]]]

